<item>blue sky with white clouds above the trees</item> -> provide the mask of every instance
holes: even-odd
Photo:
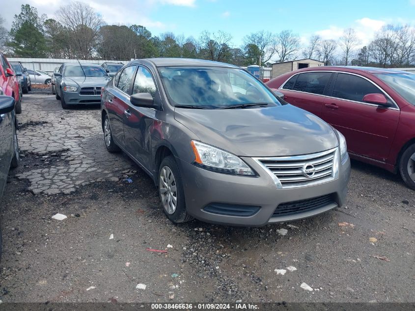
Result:
[[[53,18],[68,0],[3,0],[0,15],[10,28],[21,4],[30,4],[39,14]],[[343,29],[355,28],[361,45],[367,44],[385,24],[415,26],[415,0],[83,0],[109,25],[142,25],[153,35],[171,31],[198,38],[203,30],[232,34],[240,46],[249,33],[273,33],[291,29],[306,44],[313,34],[338,39]]]

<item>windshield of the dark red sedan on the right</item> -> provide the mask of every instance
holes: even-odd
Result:
[[[376,74],[407,102],[415,106],[415,75],[412,73],[382,73]]]

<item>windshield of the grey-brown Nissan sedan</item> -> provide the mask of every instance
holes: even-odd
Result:
[[[237,68],[160,67],[160,76],[172,103],[216,109],[244,104],[281,104],[249,73]]]

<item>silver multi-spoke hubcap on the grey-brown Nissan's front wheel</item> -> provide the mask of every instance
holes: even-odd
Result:
[[[177,203],[176,181],[167,166],[160,170],[159,189],[164,209],[168,214],[173,214]]]

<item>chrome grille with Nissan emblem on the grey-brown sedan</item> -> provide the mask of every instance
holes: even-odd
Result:
[[[337,178],[337,149],[300,156],[254,160],[270,174],[278,189],[305,187]]]

